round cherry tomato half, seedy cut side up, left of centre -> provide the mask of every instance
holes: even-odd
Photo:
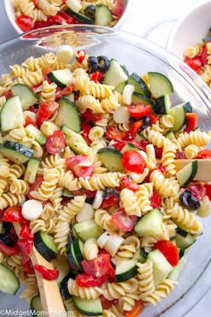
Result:
[[[63,131],[55,131],[52,135],[46,138],[46,150],[48,153],[57,154],[63,153],[65,149],[66,137]]]

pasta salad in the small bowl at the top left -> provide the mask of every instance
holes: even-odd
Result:
[[[15,21],[22,31],[52,25],[97,24],[113,27],[123,0],[13,0]]]

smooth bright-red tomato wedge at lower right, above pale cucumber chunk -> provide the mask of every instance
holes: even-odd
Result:
[[[175,244],[171,241],[158,241],[154,245],[154,249],[158,249],[165,255],[165,259],[169,261],[172,266],[176,266],[179,261],[179,253]]]

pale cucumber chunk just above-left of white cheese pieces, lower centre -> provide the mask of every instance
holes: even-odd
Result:
[[[97,226],[97,223],[94,220],[88,220],[80,222],[73,226],[76,234],[83,241],[87,241],[90,237],[98,238],[101,236],[104,231],[101,227]]]

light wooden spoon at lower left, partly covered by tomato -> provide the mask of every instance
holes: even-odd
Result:
[[[13,223],[13,227],[19,236],[21,225]],[[30,260],[33,265],[44,265],[49,270],[54,270],[54,264],[46,261],[40,253],[38,253],[35,246],[33,246]],[[44,312],[47,312],[50,317],[64,316],[66,311],[63,306],[62,296],[60,295],[57,280],[46,280],[35,270],[36,278],[38,281],[38,291]]]

